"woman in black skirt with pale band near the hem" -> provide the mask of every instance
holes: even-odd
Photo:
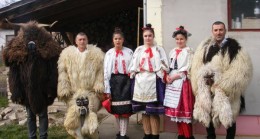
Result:
[[[126,131],[132,113],[128,66],[133,51],[124,47],[123,42],[123,32],[116,28],[113,33],[114,48],[106,53],[104,62],[105,93],[111,99],[111,113],[119,125],[117,139],[128,139]]]

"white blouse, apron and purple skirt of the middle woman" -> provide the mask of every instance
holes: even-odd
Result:
[[[139,46],[133,56],[130,72],[134,75],[132,86],[133,111],[148,114],[164,114],[162,106],[165,84],[164,71],[168,60],[162,47]]]

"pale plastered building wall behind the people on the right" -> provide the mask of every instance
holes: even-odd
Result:
[[[148,0],[147,6],[147,20],[153,24],[156,41],[158,44],[162,41],[166,52],[176,47],[172,33],[180,25],[192,33],[188,46],[194,49],[211,35],[213,22],[219,20],[228,26],[227,0]],[[260,32],[234,31],[227,32],[227,36],[237,39],[251,56],[254,77],[246,92],[244,114],[260,115],[260,64],[257,62],[260,59]]]

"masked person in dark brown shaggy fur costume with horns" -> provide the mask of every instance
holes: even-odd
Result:
[[[61,47],[35,21],[19,25],[18,35],[3,51],[11,100],[26,106],[29,138],[36,139],[36,115],[41,139],[47,139],[47,107],[57,96],[57,61]]]

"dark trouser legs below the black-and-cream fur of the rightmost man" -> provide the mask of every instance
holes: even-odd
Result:
[[[206,128],[207,130],[207,139],[216,139],[216,134],[215,134],[215,128],[213,126],[213,123],[210,123],[210,126]],[[227,136],[226,139],[235,139],[236,135],[236,123],[233,123],[231,127],[227,129]]]

